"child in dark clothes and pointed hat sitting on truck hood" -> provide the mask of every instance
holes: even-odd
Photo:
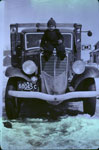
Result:
[[[56,48],[57,56],[63,60],[66,56],[64,47],[64,38],[59,29],[56,28],[56,22],[51,18],[47,23],[48,29],[45,30],[40,47],[44,49],[44,58],[48,60]]]

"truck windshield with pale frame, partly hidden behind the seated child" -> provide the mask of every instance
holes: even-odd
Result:
[[[40,47],[41,38],[44,33],[26,33],[25,50],[31,50]],[[65,49],[72,50],[73,36],[71,33],[62,33],[64,37]]]

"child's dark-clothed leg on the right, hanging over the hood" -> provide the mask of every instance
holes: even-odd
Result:
[[[63,44],[59,44],[57,47],[56,47],[56,51],[57,51],[57,56],[63,60],[65,57],[66,57],[66,54],[65,54],[65,47]]]

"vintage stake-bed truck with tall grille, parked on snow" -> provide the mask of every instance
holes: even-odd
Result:
[[[24,101],[33,102],[34,117],[48,113],[49,108],[66,110],[70,101],[83,101],[83,112],[93,116],[99,97],[99,70],[81,59],[82,25],[57,23],[64,37],[64,60],[54,49],[45,61],[40,42],[46,28],[46,23],[10,25],[11,66],[5,72],[9,78],[5,92],[8,119],[19,117]]]

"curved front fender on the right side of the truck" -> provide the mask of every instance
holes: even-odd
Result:
[[[73,88],[76,90],[82,81],[84,81],[85,79],[90,79],[90,78],[92,78],[94,80],[95,80],[95,78],[98,79],[99,78],[99,70],[92,66],[86,66],[85,71],[82,74],[80,74],[80,75],[75,74],[75,76],[72,80]]]

